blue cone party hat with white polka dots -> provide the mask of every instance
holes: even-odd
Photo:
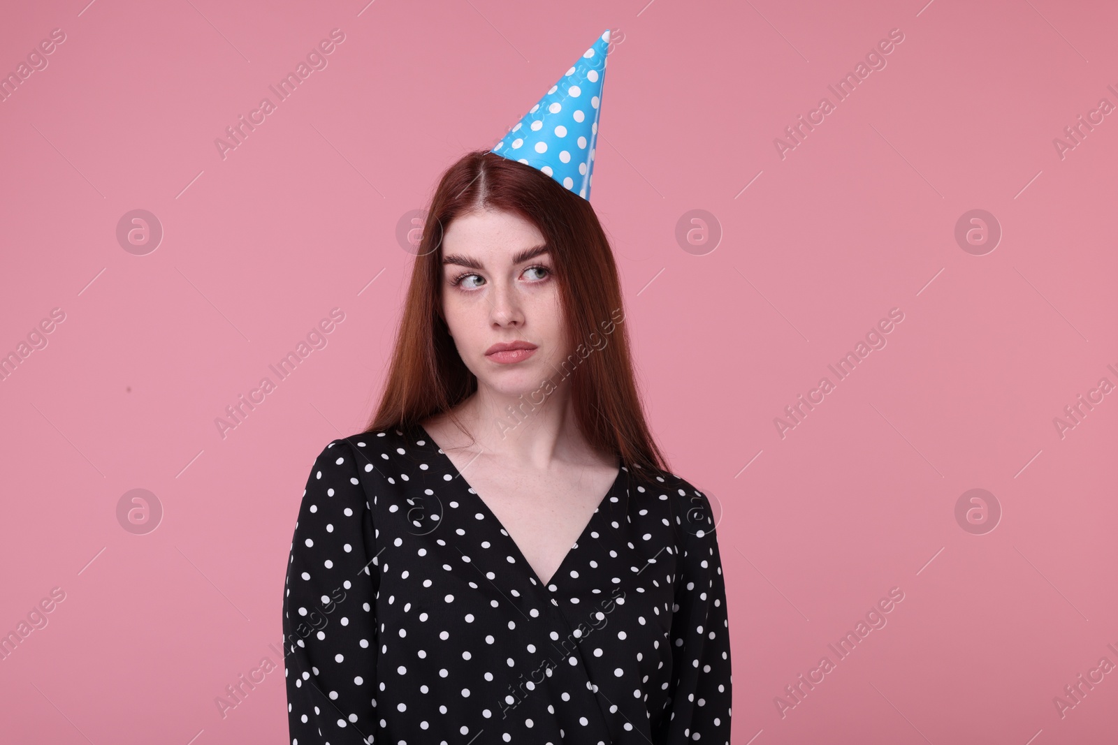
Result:
[[[491,152],[531,165],[590,201],[608,42],[606,30]]]

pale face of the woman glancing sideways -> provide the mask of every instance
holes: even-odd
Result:
[[[567,356],[558,279],[542,233],[509,212],[456,218],[443,237],[443,313],[454,344],[484,388],[530,393]],[[527,342],[532,351],[491,353]]]

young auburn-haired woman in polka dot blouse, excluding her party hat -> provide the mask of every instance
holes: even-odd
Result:
[[[443,176],[367,431],[306,481],[293,745],[730,741],[707,497],[634,385],[589,202],[475,152]]]

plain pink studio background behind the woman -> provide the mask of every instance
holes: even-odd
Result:
[[[66,34],[0,103],[0,353],[65,313],[0,383],[0,632],[65,592],[0,662],[4,742],[284,742],[282,667],[225,717],[215,698],[282,665],[303,484],[379,391],[397,223],[606,28],[593,203],[652,424],[723,512],[733,744],[1115,742],[1118,670],[1053,703],[1118,665],[1118,397],[1053,424],[1118,383],[1118,114],[1053,145],[1118,104],[1114,3],[85,1],[0,25],[4,74]],[[334,28],[328,67],[222,160],[215,139]],[[887,67],[781,159],[894,28]],[[115,236],[134,209],[164,230],[145,256]],[[693,209],[723,232],[701,256],[675,238]],[[955,240],[973,209],[1003,230],[983,256]],[[222,438],[334,307],[328,345]],[[781,438],[894,307],[887,346]],[[145,535],[117,522],[134,488],[164,510]],[[956,520],[972,488],[993,532]]]

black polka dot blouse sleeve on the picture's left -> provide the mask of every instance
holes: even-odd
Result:
[[[334,440],[306,479],[283,600],[291,745],[375,743],[380,572],[356,448]]]

